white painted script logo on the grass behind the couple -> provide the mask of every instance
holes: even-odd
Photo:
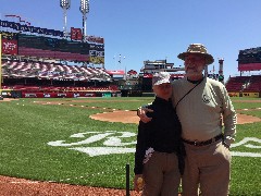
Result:
[[[66,140],[55,140],[49,142],[50,146],[69,147],[69,149],[85,152],[90,157],[111,155],[111,154],[132,154],[135,152],[135,148],[127,147],[135,145],[136,134],[132,132],[116,132],[107,131],[101,132],[85,132],[73,134],[70,137],[77,139],[76,142],[66,143]],[[129,140],[129,139],[134,140]],[[80,140],[79,140],[80,139]],[[123,142],[123,139],[125,142]],[[126,142],[127,140],[127,142]],[[102,146],[92,147],[88,146],[95,143],[102,143]],[[236,148],[238,146],[245,146],[251,149],[261,149],[261,139],[257,137],[245,137],[243,140],[232,144],[231,148]],[[232,151],[232,156],[239,157],[261,157],[260,152],[246,152],[246,151]]]

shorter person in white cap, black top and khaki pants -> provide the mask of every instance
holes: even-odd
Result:
[[[144,180],[144,196],[176,196],[184,170],[182,126],[172,107],[170,74],[153,75],[154,101],[149,106],[149,123],[139,122],[135,152],[134,187]]]

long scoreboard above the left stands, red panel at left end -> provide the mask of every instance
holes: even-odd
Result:
[[[104,44],[0,32],[2,53],[104,64]]]

